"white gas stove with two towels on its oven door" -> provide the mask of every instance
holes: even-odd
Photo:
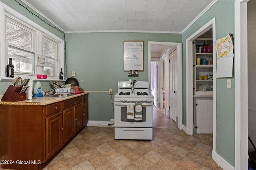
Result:
[[[136,103],[142,104],[142,118],[128,119],[127,105]],[[130,82],[118,82],[114,104],[115,139],[152,140],[153,96],[148,82],[136,82],[133,93]]]

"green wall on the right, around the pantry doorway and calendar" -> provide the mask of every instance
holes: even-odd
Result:
[[[216,39],[225,37],[228,33],[234,35],[234,1],[217,1],[193,25],[182,34],[182,76],[186,82],[186,39],[216,17]],[[234,45],[235,46],[235,45]],[[235,78],[235,76],[234,76]],[[232,88],[226,88],[226,80],[217,78],[216,81],[216,152],[228,163],[234,166],[235,152],[235,87],[234,78]],[[186,84],[183,83],[183,122],[186,125]]]

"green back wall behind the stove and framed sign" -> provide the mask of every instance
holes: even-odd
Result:
[[[123,41],[144,41],[144,71],[132,80],[148,81],[148,41],[181,42],[181,34],[166,33],[66,33],[68,76],[76,71],[79,85],[86,91],[113,89],[118,81],[128,81],[123,68]],[[112,95],[114,100],[114,95]],[[114,119],[108,92],[90,92],[89,120]]]

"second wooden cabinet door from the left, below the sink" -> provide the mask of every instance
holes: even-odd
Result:
[[[63,141],[66,143],[74,135],[74,107],[63,111]]]

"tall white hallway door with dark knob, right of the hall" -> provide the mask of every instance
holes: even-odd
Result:
[[[169,117],[175,122],[178,120],[178,70],[177,50],[169,54],[170,58],[170,111]]]

